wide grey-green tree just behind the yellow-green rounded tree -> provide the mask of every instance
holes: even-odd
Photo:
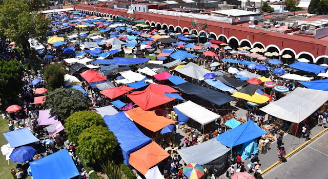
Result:
[[[57,88],[47,95],[43,104],[45,109],[51,109],[51,115],[66,119],[74,112],[87,110],[91,106],[89,98],[76,89]]]

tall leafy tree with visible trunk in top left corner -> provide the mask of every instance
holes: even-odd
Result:
[[[1,33],[22,46],[25,62],[30,62],[31,48],[29,38],[35,38],[39,42],[46,40],[46,32],[50,30],[49,20],[37,11],[43,8],[48,0],[3,0],[0,5],[0,29]],[[31,61],[32,72],[34,61]]]

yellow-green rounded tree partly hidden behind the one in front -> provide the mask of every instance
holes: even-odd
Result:
[[[68,138],[75,144],[77,144],[78,135],[91,126],[105,126],[103,117],[93,111],[75,112],[65,121]]]

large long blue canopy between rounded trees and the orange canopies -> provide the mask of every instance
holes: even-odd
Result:
[[[129,154],[152,142],[151,138],[143,134],[124,112],[105,115],[104,120],[108,128],[117,137],[117,142],[122,149],[124,163],[127,165],[129,165]]]

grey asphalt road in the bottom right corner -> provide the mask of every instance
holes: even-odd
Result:
[[[277,152],[278,153],[278,152]],[[278,155],[277,155],[278,159]],[[278,164],[263,179],[328,178],[328,132]]]

